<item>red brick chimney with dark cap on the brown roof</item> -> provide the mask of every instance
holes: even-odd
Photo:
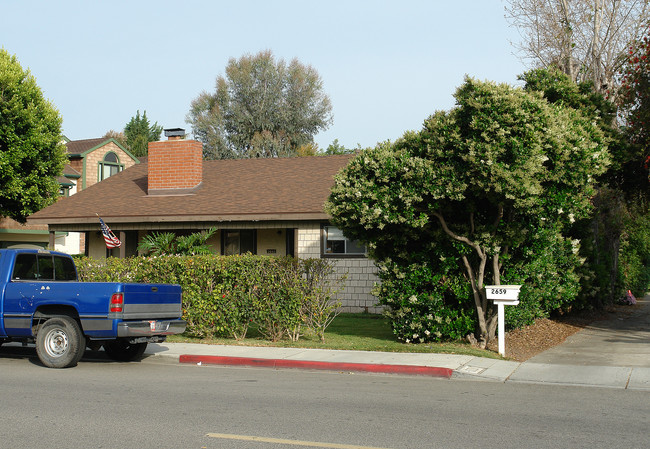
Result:
[[[203,145],[184,135],[184,129],[166,129],[168,140],[149,142],[149,195],[187,193],[201,184]]]

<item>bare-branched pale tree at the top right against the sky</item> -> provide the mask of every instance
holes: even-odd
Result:
[[[612,89],[625,52],[650,17],[647,0],[507,0],[521,54],[536,67],[559,67],[576,82]]]

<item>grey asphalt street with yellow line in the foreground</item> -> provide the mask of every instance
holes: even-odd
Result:
[[[0,448],[642,448],[647,392],[0,356]]]

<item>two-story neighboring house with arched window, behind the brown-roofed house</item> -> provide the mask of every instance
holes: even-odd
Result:
[[[60,194],[68,197],[97,182],[138,164],[139,161],[115,139],[68,140],[65,138],[68,164],[57,180]],[[0,217],[0,248],[46,248],[50,245],[47,225],[21,225]],[[84,234],[58,232],[54,248],[68,254],[84,252]]]

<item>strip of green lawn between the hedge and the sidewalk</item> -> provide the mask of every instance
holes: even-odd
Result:
[[[168,337],[170,343],[202,343],[218,345],[275,346],[290,348],[343,349],[357,351],[385,352],[429,352],[442,354],[463,354],[477,357],[500,358],[492,351],[473,348],[464,342],[406,344],[398,342],[390,323],[381,315],[340,314],[325,332],[325,342],[314,336],[300,337],[297,342],[287,339],[277,343],[262,339],[255,329],[248,332],[241,341],[228,338],[193,338],[186,335]]]

